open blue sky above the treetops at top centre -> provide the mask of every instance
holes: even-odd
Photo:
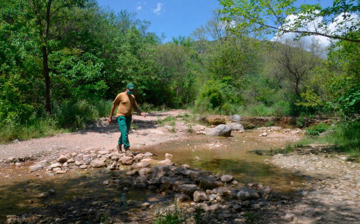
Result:
[[[98,3],[109,6],[116,13],[121,9],[136,12],[136,18],[151,22],[150,32],[165,34],[163,42],[171,41],[171,37],[192,34],[211,18],[214,9],[220,8],[218,0],[98,0]],[[298,3],[320,3],[327,7],[332,5],[332,0],[300,0]]]

